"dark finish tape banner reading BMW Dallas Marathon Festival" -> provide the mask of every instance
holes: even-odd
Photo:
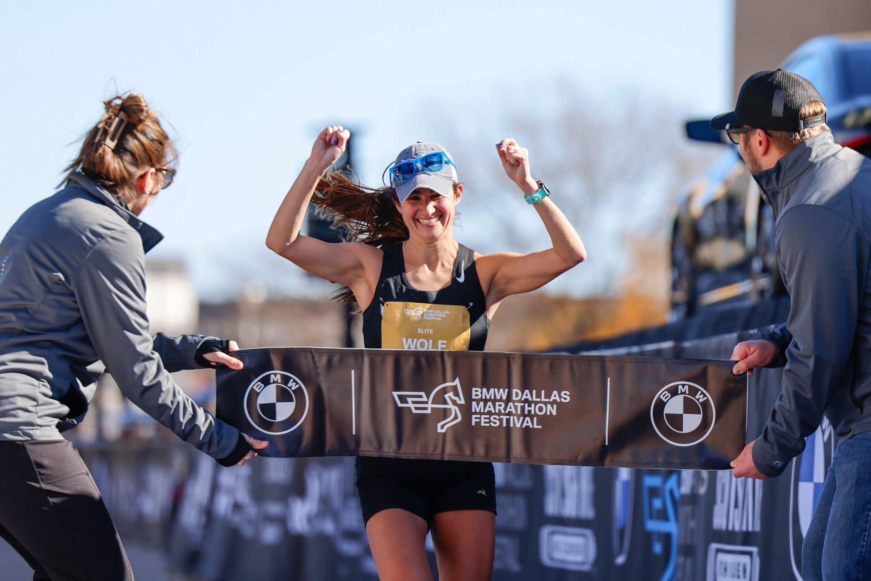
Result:
[[[347,348],[233,353],[218,417],[261,456],[390,456],[726,470],[744,448],[733,362]]]

